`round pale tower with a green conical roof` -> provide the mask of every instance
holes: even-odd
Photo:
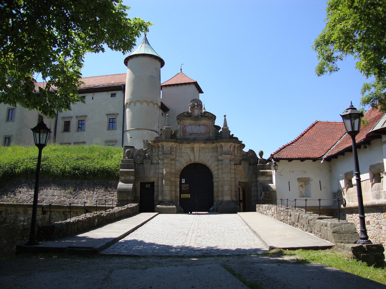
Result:
[[[146,35],[141,44],[125,58],[124,146],[144,148],[146,141],[160,133],[161,68],[164,60],[154,51]],[[163,128],[163,124],[161,124]]]

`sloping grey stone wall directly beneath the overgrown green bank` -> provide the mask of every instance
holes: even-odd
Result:
[[[38,203],[68,204],[78,203],[104,205],[117,201],[118,180],[51,180],[42,179],[39,183]],[[10,180],[0,189],[1,202],[32,203],[35,180]]]

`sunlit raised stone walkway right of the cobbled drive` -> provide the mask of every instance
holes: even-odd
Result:
[[[242,212],[238,215],[269,250],[273,248],[318,250],[334,246],[331,242],[261,213]]]

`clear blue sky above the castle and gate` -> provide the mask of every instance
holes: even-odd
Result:
[[[316,120],[341,121],[350,101],[359,108],[366,79],[352,59],[335,74],[315,75],[311,46],[325,26],[326,2],[124,1],[129,17],[154,24],[147,39],[165,61],[161,82],[183,63],[216,124],[222,126],[226,114],[244,150],[263,150],[266,158]],[[88,54],[83,77],[125,73],[127,55]]]

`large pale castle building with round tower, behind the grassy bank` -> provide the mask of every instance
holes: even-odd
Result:
[[[85,103],[74,104],[71,111],[57,113],[54,119],[36,110],[0,104],[2,145],[33,144],[30,128],[44,118],[52,131],[52,143],[144,148],[161,133],[167,113],[176,129],[177,114],[188,110],[189,101],[203,93],[197,81],[182,71],[161,84],[164,60],[146,36],[124,64],[127,73],[83,77],[85,84],[78,92]],[[43,83],[36,83],[39,86]]]

